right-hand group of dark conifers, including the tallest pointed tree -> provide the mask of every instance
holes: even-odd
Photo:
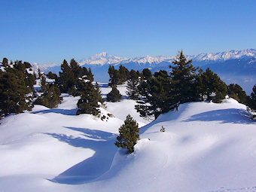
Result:
[[[185,102],[221,102],[227,95],[256,110],[256,84],[251,96],[247,96],[238,84],[227,85],[212,70],[203,71],[194,67],[192,60],[187,60],[182,50],[169,66],[169,73],[160,70],[152,75],[149,69],[143,69],[142,72],[131,70],[127,78],[128,73],[123,73],[127,69],[123,68],[120,66],[117,70],[114,66],[109,66],[109,85],[112,87],[112,93],[108,100],[120,100],[116,86],[122,84],[120,79],[126,78],[126,93],[130,99],[137,101],[136,110],[142,117],[157,118],[160,114],[178,109],[178,106]]]

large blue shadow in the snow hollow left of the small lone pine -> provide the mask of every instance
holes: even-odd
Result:
[[[57,175],[50,181],[61,184],[82,184],[95,181],[111,167],[114,154],[117,147],[114,145],[116,135],[99,130],[89,130],[86,128],[66,127],[69,130],[75,130],[83,133],[89,139],[81,137],[67,136],[65,134],[45,133],[60,142],[66,142],[69,145],[78,148],[90,148],[95,151],[92,157],[72,166],[65,172]]]

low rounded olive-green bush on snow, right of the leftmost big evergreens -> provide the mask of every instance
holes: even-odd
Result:
[[[44,105],[47,108],[56,108],[62,102],[60,90],[55,84],[44,84],[44,92],[35,100],[35,105]]]

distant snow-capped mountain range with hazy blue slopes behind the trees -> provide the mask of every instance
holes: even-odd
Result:
[[[148,68],[151,72],[160,69],[169,71],[169,65],[175,56],[141,56],[126,58],[112,56],[106,52],[96,54],[78,60],[81,66],[91,68],[96,81],[108,82],[108,67],[113,65],[118,68],[120,65],[127,69],[139,70]],[[210,68],[227,83],[239,84],[247,93],[256,83],[256,50],[230,50],[219,53],[200,53],[198,55],[187,55],[187,59],[193,60],[194,66],[202,69]],[[37,65],[34,65],[37,66]],[[60,65],[40,66],[43,72],[60,71]]]

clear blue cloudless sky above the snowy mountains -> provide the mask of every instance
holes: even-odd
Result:
[[[0,59],[41,64],[256,48],[255,0],[0,0]]]

